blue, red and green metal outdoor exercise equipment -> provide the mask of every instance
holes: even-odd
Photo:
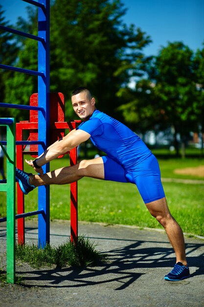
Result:
[[[2,30],[38,41],[38,71],[0,64],[1,69],[38,76],[38,93],[31,96],[30,105],[0,103],[0,107],[26,109],[30,111],[29,121],[23,121],[16,124],[17,167],[20,169],[23,169],[24,153],[30,153],[33,156],[40,155],[50,143],[64,135],[65,129],[70,131],[76,128],[77,122],[80,122],[65,122],[64,96],[61,93],[49,92],[49,0],[38,0],[38,2],[34,0],[23,1],[38,7],[38,36],[0,26]],[[50,109],[52,110],[51,112]],[[15,135],[14,122],[14,119],[1,119],[0,125],[6,125],[9,131],[12,129]],[[24,129],[29,130],[29,137],[26,141],[23,140]],[[38,131],[40,131],[40,133],[38,133]],[[6,182],[0,180],[0,191],[8,192],[9,189],[9,193],[7,194],[15,195],[15,157],[9,153],[11,142],[14,142],[13,148],[15,149],[15,140],[12,139],[11,141],[9,135],[10,134],[7,132],[7,141],[1,142],[1,145],[7,145],[6,156],[8,161],[13,161],[12,163],[9,162],[12,164],[13,168],[12,171],[10,171],[10,164],[9,168],[7,166],[9,179],[7,178]],[[50,135],[52,135],[51,139]],[[24,151],[26,145],[30,145],[29,152]],[[13,151],[15,153],[14,149]],[[70,165],[77,163],[76,148],[70,151],[69,157]],[[49,163],[43,166],[43,171],[44,173],[49,171]],[[70,193],[70,239],[76,242],[78,236],[77,182],[71,183]],[[11,197],[9,197],[7,198],[7,217],[0,219],[0,222],[7,220],[7,281],[11,283],[15,282],[15,219],[18,219],[18,241],[20,244],[24,244],[24,218],[27,216],[38,215],[39,247],[44,248],[45,244],[49,243],[50,235],[49,186],[38,187],[38,210],[36,211],[24,212],[24,195],[19,185],[17,185],[17,201],[18,214],[15,216],[15,197],[12,200]]]

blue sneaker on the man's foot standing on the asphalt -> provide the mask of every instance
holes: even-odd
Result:
[[[182,281],[190,276],[189,267],[184,266],[181,262],[177,262],[171,272],[165,275],[166,281]]]

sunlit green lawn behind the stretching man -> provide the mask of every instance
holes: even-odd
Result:
[[[51,169],[68,164],[68,158],[52,161]],[[162,178],[203,179],[178,175],[175,169],[204,165],[202,159],[159,160]],[[30,172],[28,166],[26,171]],[[204,184],[163,183],[172,215],[184,232],[204,236]],[[25,211],[37,209],[37,189],[25,196]],[[0,215],[6,215],[5,193],[1,193]],[[78,218],[81,221],[161,228],[149,214],[134,184],[83,178],[78,182]],[[69,185],[50,186],[50,218],[70,219]]]

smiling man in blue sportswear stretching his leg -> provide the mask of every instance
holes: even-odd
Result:
[[[169,212],[156,157],[133,131],[98,111],[87,88],[79,87],[73,91],[71,102],[83,123],[48,147],[34,161],[25,160],[39,175],[16,170],[23,193],[27,194],[40,185],[68,184],[83,177],[135,183],[148,210],[166,230],[176,254],[176,264],[164,279],[180,281],[189,277],[183,233]],[[43,165],[89,138],[107,155],[43,174]]]

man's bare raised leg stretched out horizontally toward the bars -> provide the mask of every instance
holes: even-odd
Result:
[[[49,184],[68,184],[83,177],[104,179],[104,164],[101,157],[83,160],[76,165],[62,167],[42,176],[30,175],[29,183],[35,187]]]

